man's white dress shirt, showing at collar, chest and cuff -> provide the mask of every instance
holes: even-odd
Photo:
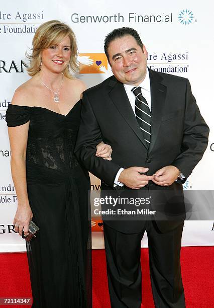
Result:
[[[146,70],[146,76],[145,76],[145,79],[142,81],[142,83],[139,85],[139,87],[141,87],[141,92],[143,94],[143,96],[145,97],[148,105],[149,105],[149,109],[150,111],[152,112],[151,110],[151,92],[150,92],[150,79],[149,79],[149,70],[148,70],[148,67],[147,67],[147,70]],[[136,96],[134,95],[134,93],[132,92],[132,89],[134,88],[133,85],[126,85],[124,84],[124,88],[126,90],[126,94],[128,96],[128,99],[129,99],[129,102],[132,106],[132,109],[133,109],[133,112],[135,114],[135,99],[136,99]],[[113,149],[114,150],[114,149]],[[121,172],[124,170],[124,168],[121,168],[116,177],[115,177],[115,181],[114,181],[114,187],[119,185],[119,186],[123,186],[124,184],[119,182],[118,179],[121,175]]]

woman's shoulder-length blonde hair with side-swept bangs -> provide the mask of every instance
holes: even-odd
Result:
[[[73,72],[78,72],[79,70],[79,63],[77,61],[78,49],[76,44],[76,37],[68,25],[61,23],[58,20],[50,20],[40,25],[36,30],[32,42],[32,53],[28,54],[26,52],[26,57],[30,60],[30,66],[27,68],[28,74],[30,76],[34,76],[40,71],[41,52],[52,45],[59,44],[64,40],[66,36],[68,36],[71,41],[71,57],[69,61],[69,67],[66,67],[63,70],[63,74],[67,78],[73,78],[69,68]]]

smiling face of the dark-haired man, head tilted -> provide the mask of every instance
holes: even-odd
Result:
[[[135,38],[126,35],[109,45],[109,61],[112,72],[123,84],[138,86],[146,76],[147,51],[137,44]]]

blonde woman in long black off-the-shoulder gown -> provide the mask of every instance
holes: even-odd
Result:
[[[84,90],[69,73],[77,68],[76,56],[67,25],[41,25],[28,69],[32,78],[16,90],[7,110],[18,197],[15,229],[27,235],[32,217],[40,227],[36,239],[26,242],[33,307],[92,305],[90,181],[73,153]],[[108,158],[111,147],[100,144],[96,155]]]

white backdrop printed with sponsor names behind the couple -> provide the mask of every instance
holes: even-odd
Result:
[[[15,89],[29,76],[25,52],[32,47],[38,26],[52,19],[74,30],[83,63],[80,78],[87,87],[112,72],[104,55],[103,40],[115,28],[136,29],[148,51],[148,66],[156,71],[188,78],[201,114],[210,127],[202,161],[183,185],[184,190],[213,190],[213,4],[209,0],[147,2],[134,5],[119,0],[8,0],[0,4],[0,252],[25,251],[25,241],[14,232],[17,197],[10,171],[10,144],[5,115]],[[176,123],[175,123],[176,125]],[[91,176],[91,189],[100,189]],[[93,248],[103,248],[102,222],[92,219]],[[214,217],[185,221],[183,246],[213,245]],[[147,246],[146,235],[142,246]]]

